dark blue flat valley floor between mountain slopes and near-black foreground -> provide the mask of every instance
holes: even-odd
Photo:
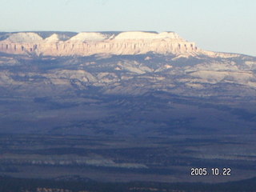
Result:
[[[247,135],[162,138],[0,135],[0,174],[98,182],[230,182],[256,177],[256,143]],[[191,168],[209,174],[191,176]],[[230,175],[212,175],[230,168]]]

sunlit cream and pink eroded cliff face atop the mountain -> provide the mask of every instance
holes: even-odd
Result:
[[[84,32],[63,41],[59,34],[42,38],[37,33],[15,33],[0,41],[0,51],[8,54],[50,56],[92,54],[195,54],[200,50],[174,32]]]

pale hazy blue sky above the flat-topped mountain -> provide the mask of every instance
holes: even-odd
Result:
[[[205,50],[256,56],[255,0],[0,0],[0,31],[175,31]]]

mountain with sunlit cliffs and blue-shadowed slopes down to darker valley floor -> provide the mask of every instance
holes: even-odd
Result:
[[[0,132],[163,134],[255,125],[254,57],[201,50],[174,32],[0,39]]]

